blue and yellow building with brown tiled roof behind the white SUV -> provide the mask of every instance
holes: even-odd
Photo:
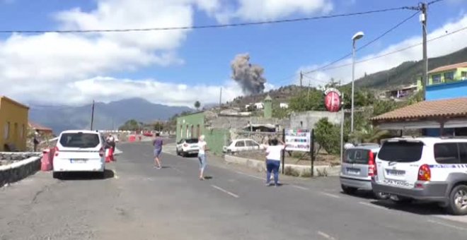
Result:
[[[422,129],[425,136],[467,136],[467,62],[428,72],[424,102],[371,119],[386,130]]]

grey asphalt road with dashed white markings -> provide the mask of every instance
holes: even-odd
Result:
[[[282,178],[211,160],[197,179],[195,158],[150,143],[117,146],[104,180],[38,172],[0,189],[0,239],[467,239],[465,217],[435,205],[396,208],[369,194],[340,193],[337,178]]]

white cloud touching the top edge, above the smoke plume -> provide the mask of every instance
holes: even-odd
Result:
[[[275,20],[292,14],[322,14],[333,10],[330,0],[238,0],[238,8],[226,5],[216,16],[220,22],[231,19]]]

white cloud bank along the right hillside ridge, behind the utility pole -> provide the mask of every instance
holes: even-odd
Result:
[[[430,40],[435,37],[445,35],[446,33],[454,32],[455,30],[459,30],[461,28],[466,28],[466,27],[467,27],[467,15],[464,15],[463,17],[458,18],[457,20],[446,23],[445,25],[442,26],[442,28],[438,28],[430,32],[429,35],[427,36],[427,39]],[[457,32],[453,35],[443,37],[439,40],[428,42],[428,45],[427,45],[428,56],[432,58],[432,57],[446,55],[451,52],[459,51],[460,49],[467,47],[466,41],[463,41],[465,39],[467,39],[467,30]],[[397,52],[396,54],[384,56],[379,59],[365,61],[368,59],[372,59],[375,56],[395,52],[398,49],[403,49],[405,47],[409,47],[409,46],[418,44],[420,42],[422,42],[422,37],[419,37],[419,36],[408,37],[408,39],[403,40],[402,42],[399,42],[398,44],[393,44],[381,52],[377,52],[375,54],[369,54],[363,57],[357,57],[357,61],[364,61],[364,62],[356,64],[355,79],[361,78],[362,76],[364,76],[365,73],[371,74],[371,73],[376,73],[379,71],[384,71],[384,70],[396,67],[399,64],[402,64],[404,61],[421,60],[422,59],[422,45],[419,45],[417,47],[413,47],[402,52]],[[352,66],[351,66],[352,59],[345,59],[333,66],[340,66],[340,65],[346,65],[346,64],[348,64],[348,66],[344,66],[342,68],[335,68],[335,69],[330,69],[326,71],[316,71],[313,73],[309,73],[309,77],[311,78],[311,83],[312,83],[311,85],[313,86],[324,85],[326,82],[330,80],[330,78],[335,78],[335,80],[342,80],[343,83],[350,82],[352,80]],[[306,67],[300,68],[299,71],[300,70],[310,71],[310,70],[313,70],[320,66],[325,66],[325,65],[326,63],[317,64],[313,66],[306,66]],[[333,66],[330,66],[330,67],[332,68]],[[295,80],[295,83],[299,83],[299,80]],[[308,80],[306,81],[306,83],[308,83]]]

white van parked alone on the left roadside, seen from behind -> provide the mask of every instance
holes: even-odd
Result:
[[[67,172],[96,172],[104,177],[105,139],[96,131],[77,130],[60,133],[54,150],[53,176]]]

